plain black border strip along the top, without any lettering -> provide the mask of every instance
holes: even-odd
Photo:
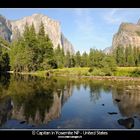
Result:
[[[139,0],[0,0],[0,7],[29,8],[139,8]]]

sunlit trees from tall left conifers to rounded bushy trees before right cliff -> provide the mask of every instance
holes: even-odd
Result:
[[[11,70],[37,71],[53,68],[71,67],[110,67],[115,65],[112,56],[105,55],[97,49],[90,49],[90,53],[70,52],[64,53],[64,49],[58,44],[57,48],[49,36],[45,34],[44,25],[41,23],[39,32],[36,33],[34,25],[26,25],[23,36],[13,42],[9,51]]]

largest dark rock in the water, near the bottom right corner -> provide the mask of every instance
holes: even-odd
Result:
[[[134,128],[134,119],[133,118],[119,119],[118,123],[119,123],[119,125],[122,125],[127,129]]]

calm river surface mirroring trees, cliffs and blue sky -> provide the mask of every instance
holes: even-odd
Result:
[[[0,76],[0,128],[140,128],[140,83]]]

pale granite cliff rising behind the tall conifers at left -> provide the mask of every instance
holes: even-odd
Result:
[[[64,52],[74,53],[72,44],[61,33],[60,22],[49,18],[42,14],[33,14],[32,16],[24,17],[19,20],[10,21],[0,16],[0,36],[8,41],[13,41],[19,36],[22,36],[26,24],[29,26],[34,24],[36,32],[39,31],[41,22],[44,24],[45,33],[52,40],[54,48],[60,45],[64,48]]]

